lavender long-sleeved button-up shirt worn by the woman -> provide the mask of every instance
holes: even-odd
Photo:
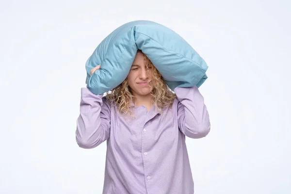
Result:
[[[107,140],[103,194],[194,194],[185,137],[206,136],[209,114],[196,86],[174,92],[172,108],[136,106],[129,119],[81,88],[76,140],[87,149]]]

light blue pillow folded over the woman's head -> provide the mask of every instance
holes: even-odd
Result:
[[[152,21],[126,23],[111,32],[86,62],[87,88],[103,94],[124,81],[137,50],[142,50],[162,74],[171,90],[199,87],[208,77],[208,65],[176,32]],[[90,76],[91,68],[100,69]]]

